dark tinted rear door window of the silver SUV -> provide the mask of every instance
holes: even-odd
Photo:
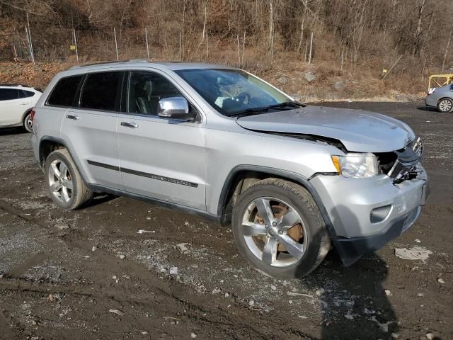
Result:
[[[81,90],[80,108],[115,111],[120,102],[123,72],[88,74]]]

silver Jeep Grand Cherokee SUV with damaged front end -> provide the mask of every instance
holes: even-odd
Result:
[[[275,277],[310,273],[331,243],[349,266],[411,227],[429,194],[405,123],[306,106],[231,67],[73,67],[33,124],[59,207],[113,193],[231,224],[239,252]]]

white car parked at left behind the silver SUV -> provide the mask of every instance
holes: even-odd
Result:
[[[31,112],[41,94],[25,85],[0,84],[0,128],[23,126],[33,132]]]

